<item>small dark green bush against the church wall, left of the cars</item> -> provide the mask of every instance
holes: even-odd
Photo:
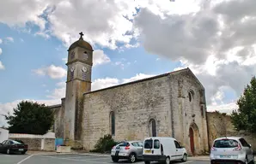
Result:
[[[110,134],[104,135],[103,138],[100,138],[95,144],[94,149],[91,150],[91,152],[97,152],[97,153],[108,153],[111,151],[114,145],[116,145],[117,142],[115,142]]]

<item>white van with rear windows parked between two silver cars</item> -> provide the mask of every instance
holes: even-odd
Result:
[[[186,149],[180,146],[175,138],[144,138],[143,161],[145,164],[149,164],[150,161],[160,161],[169,164],[170,161],[186,161],[186,159]]]

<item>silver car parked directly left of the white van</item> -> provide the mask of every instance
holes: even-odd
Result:
[[[131,163],[141,160],[143,157],[142,141],[125,141],[121,142],[111,149],[111,157],[114,162],[119,159],[127,159]]]

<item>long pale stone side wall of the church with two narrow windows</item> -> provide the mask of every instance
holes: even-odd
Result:
[[[94,149],[110,132],[110,112],[115,113],[115,140],[149,137],[149,120],[156,120],[157,136],[171,136],[167,76],[84,95],[83,147]]]

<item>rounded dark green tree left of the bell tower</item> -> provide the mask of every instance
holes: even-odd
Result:
[[[14,114],[4,115],[10,133],[46,134],[53,124],[53,113],[45,104],[21,101]]]

